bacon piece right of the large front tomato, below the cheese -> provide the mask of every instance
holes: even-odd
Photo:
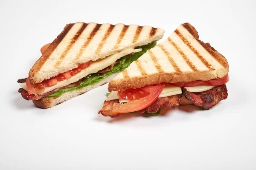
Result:
[[[156,113],[160,108],[175,109],[180,105],[182,94],[158,98],[152,105],[140,110],[139,113]]]

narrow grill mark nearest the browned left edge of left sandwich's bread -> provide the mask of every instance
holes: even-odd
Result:
[[[65,56],[70,51],[70,49],[73,47],[73,45],[76,43],[76,40],[80,37],[80,35],[84,31],[84,29],[87,27],[87,25],[88,25],[87,23],[83,23],[83,25],[77,31],[76,35],[74,35],[73,39],[71,40],[70,44],[67,46],[65,51],[62,52],[61,57],[59,57],[58,62],[54,65],[54,67],[58,67],[61,64],[62,60],[65,58]]]

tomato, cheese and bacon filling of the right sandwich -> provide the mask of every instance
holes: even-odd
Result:
[[[112,118],[122,113],[138,111],[150,116],[157,116],[160,108],[176,108],[182,103],[195,104],[209,109],[227,98],[226,83],[228,75],[209,81],[160,83],[138,89],[113,91],[99,111],[103,116]]]

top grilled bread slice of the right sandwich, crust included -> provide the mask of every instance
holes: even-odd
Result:
[[[109,91],[140,88],[161,82],[191,82],[224,77],[229,65],[209,43],[199,40],[189,23],[143,54],[109,83]]]

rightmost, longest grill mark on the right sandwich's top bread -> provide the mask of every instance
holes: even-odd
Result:
[[[201,60],[201,62],[204,63],[204,65],[209,69],[209,70],[215,70],[212,65],[207,62],[207,60],[201,56],[201,54],[198,53],[198,51],[191,45],[191,43],[180,33],[179,30],[175,30],[174,31],[179,37],[180,39],[190,48],[191,51],[193,51],[193,53]]]

